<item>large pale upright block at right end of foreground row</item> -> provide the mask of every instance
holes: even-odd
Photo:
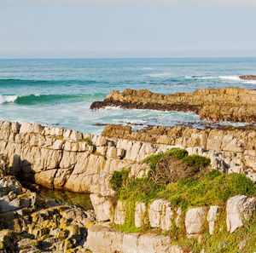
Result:
[[[243,217],[249,220],[255,211],[256,197],[247,198],[244,195],[232,197],[227,202],[227,230],[234,233],[243,226]]]

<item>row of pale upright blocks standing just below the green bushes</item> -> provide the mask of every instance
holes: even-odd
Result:
[[[100,216],[98,221],[113,221],[116,225],[125,224],[126,206],[129,203],[118,201],[114,206],[109,203],[105,197],[93,196],[92,201],[96,217]],[[101,203],[101,204],[100,204]],[[249,221],[256,210],[256,197],[247,198],[237,195],[230,198],[226,204],[226,226],[227,231],[234,233],[237,228],[244,226],[245,221]],[[164,199],[155,199],[152,203],[137,203],[135,206],[134,219],[135,227],[143,227],[148,222],[149,227],[160,228],[161,231],[170,231],[174,222],[177,227],[185,227],[188,237],[199,237],[203,229],[208,229],[212,235],[214,233],[215,223],[218,222],[220,208],[216,205],[207,207],[194,207],[183,213],[184,220],[181,223],[180,216],[182,210],[176,209],[171,203]],[[106,213],[108,216],[106,216]],[[104,217],[104,219],[103,219]],[[177,222],[177,218],[179,221]]]

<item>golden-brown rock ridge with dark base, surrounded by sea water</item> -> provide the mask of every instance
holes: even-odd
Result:
[[[155,94],[148,89],[113,90],[104,101],[96,101],[90,108],[105,106],[195,112],[201,119],[211,121],[256,122],[256,91],[251,89],[196,89],[194,93],[173,95]]]

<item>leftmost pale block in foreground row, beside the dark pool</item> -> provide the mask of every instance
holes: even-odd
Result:
[[[108,198],[90,194],[90,200],[95,210],[97,221],[111,221],[113,219],[113,205]]]

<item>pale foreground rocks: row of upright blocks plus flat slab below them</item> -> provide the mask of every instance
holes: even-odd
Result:
[[[118,201],[113,207],[113,204],[106,202],[106,199],[102,198],[102,201],[99,201],[100,198],[91,196],[96,216],[104,216],[105,221],[113,221],[117,225],[125,224],[125,203]],[[102,205],[102,208],[99,205]],[[223,230],[235,233],[239,227],[243,227],[253,216],[255,217],[255,207],[256,197],[247,198],[246,196],[238,195],[228,200],[226,215],[219,206],[211,206],[210,208],[194,207],[182,214],[180,209],[172,209],[171,204],[166,200],[156,199],[153,203],[148,204],[147,207],[144,203],[137,203],[133,218],[135,219],[134,223],[139,224],[138,227],[143,227],[144,222],[149,222],[149,227],[159,228],[161,231],[169,231],[169,233],[177,229],[173,227],[173,224],[176,223],[176,226],[181,229],[185,227],[188,238],[195,238],[201,241],[203,239],[202,233],[205,229],[211,235],[221,233]],[[106,213],[108,213],[108,216],[106,216]],[[184,218],[181,219],[181,216]],[[226,216],[226,222],[222,221],[224,216]],[[219,217],[222,217],[222,219]],[[108,223],[101,223],[89,228],[87,245],[94,253],[187,252],[181,246],[171,243],[170,237],[155,233],[117,232],[109,227]]]

